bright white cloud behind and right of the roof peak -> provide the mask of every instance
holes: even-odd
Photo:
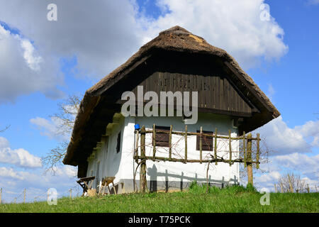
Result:
[[[166,6],[170,13],[149,23],[148,40],[178,24],[228,51],[244,67],[254,66],[259,57],[279,59],[288,50],[283,41],[284,30],[272,16],[269,21],[260,19],[263,2],[161,0],[159,6]]]

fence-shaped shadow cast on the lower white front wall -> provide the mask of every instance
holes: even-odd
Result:
[[[168,192],[169,190],[174,189],[180,189],[183,191],[183,189],[186,189],[189,187],[191,182],[196,181],[199,183],[206,184],[207,179],[206,178],[198,178],[197,174],[195,174],[195,177],[187,177],[184,176],[184,172],[181,172],[181,175],[175,175],[168,173],[167,170],[165,172],[157,172],[157,167],[155,165],[152,166],[152,168],[147,168],[147,175],[150,176],[150,181],[147,182],[149,184],[150,192],[157,192],[164,190],[165,192]],[[157,181],[157,177],[165,177],[165,181]],[[179,178],[179,181],[169,181],[169,177]],[[183,182],[183,180],[186,180],[186,182]],[[225,181],[224,177],[221,180],[218,179],[211,179],[211,175],[208,176],[208,184],[210,186],[216,186],[216,187],[225,187],[225,185],[228,184],[239,184],[237,177],[234,175],[234,178],[231,178],[230,181]]]

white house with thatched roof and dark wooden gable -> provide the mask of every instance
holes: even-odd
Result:
[[[236,137],[280,115],[225,50],[213,47],[179,26],[162,31],[84,95],[63,162],[78,166],[78,177],[96,177],[94,187],[99,187],[103,177],[116,177],[114,182],[119,193],[133,192],[139,187],[139,183],[133,184],[138,165],[133,159],[137,138],[135,125],[149,130],[154,124],[164,131],[170,126],[174,131],[185,130],[185,116],[123,116],[121,106],[126,100],[121,99],[122,94],[130,91],[139,96],[138,86],[142,86],[144,92],[158,95],[160,92],[198,92],[198,119],[187,125],[188,132],[196,133],[202,127],[205,133],[213,133],[217,128],[218,135],[228,135],[230,131],[231,136]],[[145,97],[143,101],[147,103]],[[190,106],[194,108],[193,101]],[[169,157],[168,136],[156,135],[157,155]],[[152,156],[152,133],[145,136],[145,153]],[[184,158],[183,139],[180,135],[172,135],[173,158]],[[203,159],[213,152],[213,139],[206,139],[202,147]],[[196,135],[188,136],[187,159],[198,160],[198,141]],[[237,141],[231,143],[233,150],[239,150]],[[218,143],[222,144],[223,140],[218,139]],[[228,153],[223,153],[223,149],[227,150],[219,145],[218,154],[227,159]],[[233,159],[236,157],[238,153],[233,153]],[[185,164],[147,160],[147,187],[150,191],[180,190],[194,180],[206,182],[207,165],[207,162]],[[223,187],[238,182],[237,162],[233,165],[218,162],[211,166],[210,184]],[[136,181],[139,179],[137,174]]]

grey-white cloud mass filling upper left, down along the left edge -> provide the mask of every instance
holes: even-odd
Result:
[[[58,21],[47,21],[50,3],[0,0],[0,21],[20,33],[0,27],[0,103],[32,92],[61,98],[62,58],[77,57],[77,75],[101,78],[140,46],[129,0],[55,1]]]

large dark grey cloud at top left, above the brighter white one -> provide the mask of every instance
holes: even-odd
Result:
[[[0,1],[0,20],[31,38],[43,55],[77,56],[79,74],[101,78],[140,46],[133,1],[57,0],[57,21],[47,21],[51,1]],[[18,16],[17,16],[18,15]],[[32,25],[32,27],[31,27]]]

